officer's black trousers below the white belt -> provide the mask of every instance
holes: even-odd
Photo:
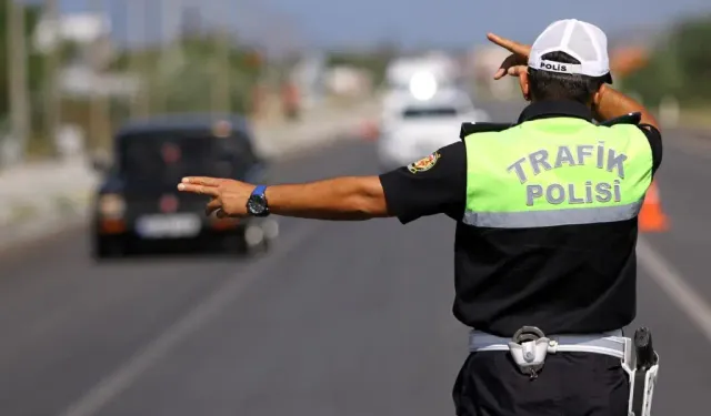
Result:
[[[538,378],[508,352],[470,354],[452,396],[458,416],[627,416],[629,376],[619,358],[549,354]]]

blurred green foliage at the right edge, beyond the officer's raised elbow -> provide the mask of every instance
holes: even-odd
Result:
[[[649,64],[624,80],[624,88],[639,92],[649,105],[673,95],[682,105],[711,101],[711,16],[675,26],[657,45]]]

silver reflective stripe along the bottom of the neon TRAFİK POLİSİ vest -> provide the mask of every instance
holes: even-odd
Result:
[[[628,205],[563,209],[523,212],[464,213],[464,224],[492,229],[534,229],[540,226],[598,224],[633,219],[642,209],[642,201]]]

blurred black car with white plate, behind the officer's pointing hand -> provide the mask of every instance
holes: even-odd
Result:
[[[266,182],[267,164],[252,139],[241,116],[172,115],[123,126],[113,140],[112,162],[94,161],[104,180],[92,210],[93,256],[184,250],[189,243],[264,252],[278,233],[272,219],[207,217],[207,197],[177,192],[183,176]]]

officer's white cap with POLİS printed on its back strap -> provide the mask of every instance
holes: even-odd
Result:
[[[580,64],[543,60],[542,57],[550,52],[568,53]],[[607,81],[612,83],[608,37],[594,24],[575,19],[559,20],[545,28],[533,42],[529,68],[588,77],[608,75]]]

